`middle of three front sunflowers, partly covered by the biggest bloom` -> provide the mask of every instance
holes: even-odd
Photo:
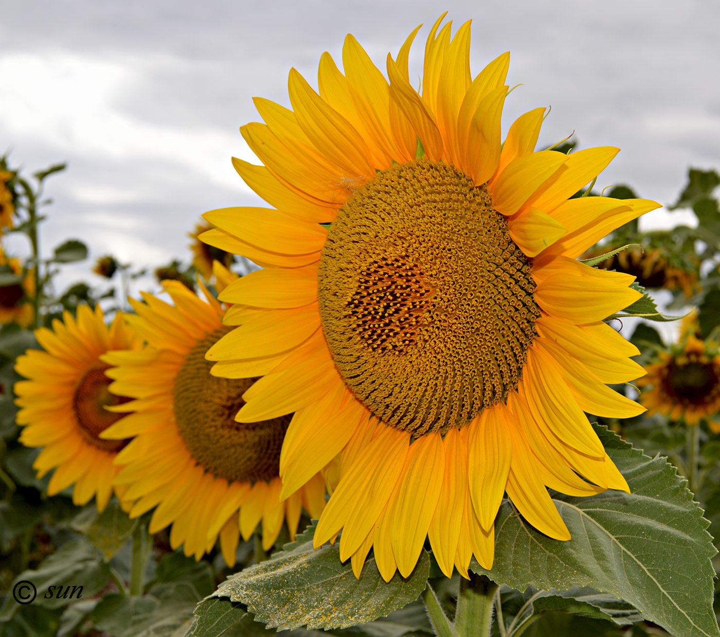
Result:
[[[234,277],[218,266],[222,289]],[[294,538],[303,505],[318,517],[325,483],[315,476],[281,502],[278,462],[290,417],[234,421],[253,380],[212,376],[205,360],[207,349],[231,329],[222,325],[225,311],[202,284],[207,303],[177,281],[163,285],[174,306],[150,294],[143,294],[145,303],[131,300],[138,315],[128,321],[148,346],[103,357],[117,365],[108,371],[116,379],[111,390],[135,398],[115,408],[135,414],[103,437],[133,437],[116,459],[124,465],[116,484],[127,486],[127,497],[137,501],[130,517],[157,507],[150,533],[171,524],[171,546],[183,544],[185,554],[197,559],[219,534],[222,555],[233,566],[240,534],[247,540],[259,522],[267,550],[286,519]]]

